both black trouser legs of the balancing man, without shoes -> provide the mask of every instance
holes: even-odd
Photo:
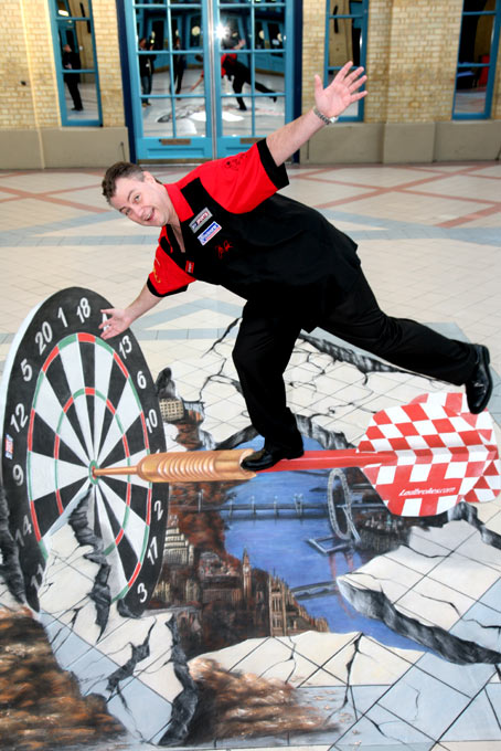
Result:
[[[287,408],[283,376],[301,324],[260,308],[255,302],[246,304],[233,360],[250,422],[265,446],[297,448],[302,440]],[[319,317],[318,326],[399,368],[456,385],[469,379],[476,364],[471,345],[383,313],[362,273],[348,296]]]

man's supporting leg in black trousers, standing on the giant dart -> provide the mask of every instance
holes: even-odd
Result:
[[[302,453],[283,379],[299,330],[284,318],[263,316],[247,303],[233,350],[250,422],[264,436],[266,451],[281,454],[280,458]]]

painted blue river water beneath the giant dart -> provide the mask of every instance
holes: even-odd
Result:
[[[256,440],[241,447],[260,447]],[[307,451],[321,448],[316,441],[305,440]],[[258,474],[250,483],[234,489],[233,515],[225,514],[226,550],[242,559],[247,550],[250,565],[275,574],[287,582],[289,588],[332,581],[349,571],[356,570],[370,560],[365,551],[344,553],[337,552],[324,556],[315,550],[308,542],[311,538],[332,535],[329,519],[298,518],[283,516],[276,518],[273,511],[259,512],[248,518],[248,514],[238,515],[238,506],[252,504],[294,503],[295,495],[302,495],[305,507],[308,504],[327,504],[328,470],[277,472]],[[226,504],[227,506],[228,504]],[[245,516],[244,516],[245,515]],[[396,634],[380,621],[367,618],[358,613],[341,594],[322,595],[303,599],[299,602],[315,617],[324,617],[329,628],[334,633],[363,632],[382,644],[406,649],[423,649],[415,642]]]

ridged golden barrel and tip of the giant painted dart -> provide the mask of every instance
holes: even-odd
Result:
[[[241,466],[252,448],[237,451],[167,452],[148,454],[135,467],[94,469],[94,477],[138,475],[148,483],[203,483],[250,479],[254,472]]]

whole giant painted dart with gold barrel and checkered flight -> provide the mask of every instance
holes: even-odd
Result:
[[[252,449],[149,454],[136,466],[95,468],[150,483],[250,479],[241,466]],[[424,394],[373,415],[358,448],[305,452],[265,472],[363,467],[392,514],[434,516],[460,501],[493,500],[501,490],[490,414],[468,411],[461,393]]]

